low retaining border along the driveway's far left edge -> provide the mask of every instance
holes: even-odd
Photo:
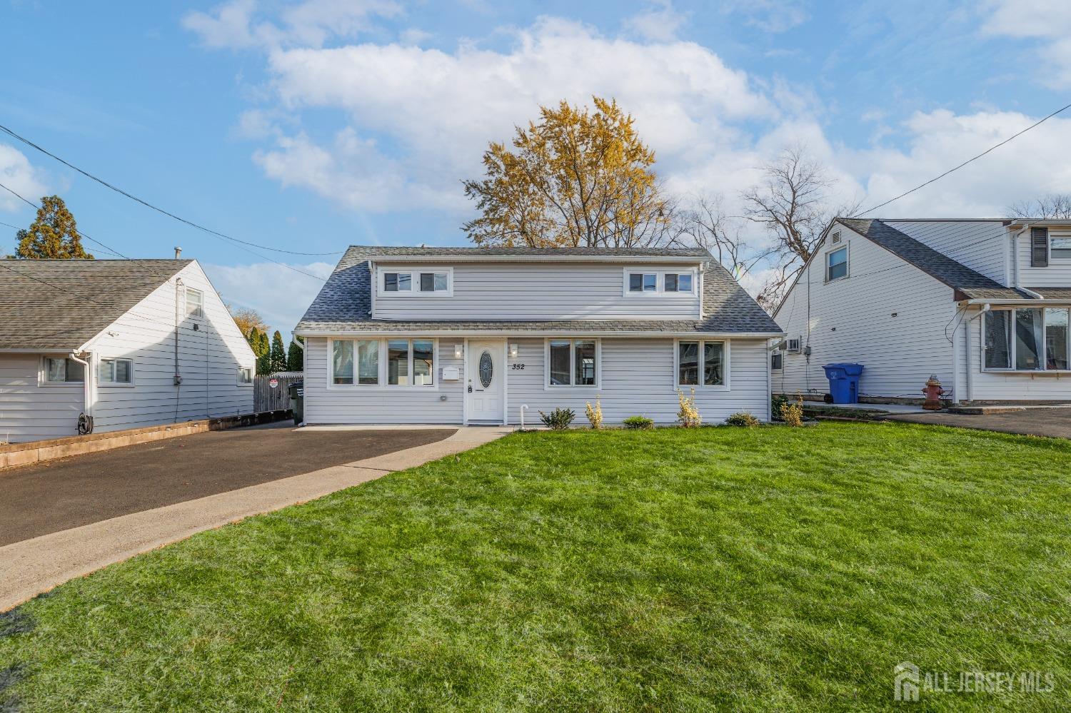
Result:
[[[144,428],[112,430],[104,434],[69,436],[66,438],[54,438],[46,441],[7,443],[0,445],[0,473],[15,466],[29,466],[45,460],[66,458],[85,453],[96,453],[99,451],[110,451],[111,449],[148,443],[165,438],[178,438],[180,436],[202,434],[209,430],[224,430],[238,426],[253,426],[260,423],[284,421],[290,418],[292,418],[292,412],[289,409],[260,411],[258,413],[243,413],[241,415],[223,416],[220,419],[202,419],[200,421],[183,421],[181,423],[146,426]]]

